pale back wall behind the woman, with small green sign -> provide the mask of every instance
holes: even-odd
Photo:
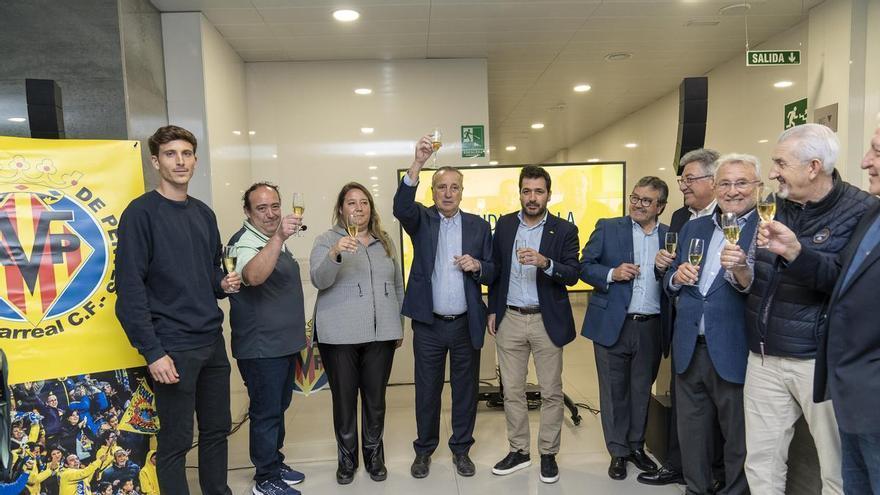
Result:
[[[488,158],[461,158],[459,143],[461,125],[483,124],[489,135],[485,60],[249,63],[246,72],[250,129],[255,131],[250,138],[253,180],[279,184],[286,210],[292,192],[305,193],[309,230],[291,238],[288,246],[303,269],[307,315],[316,296],[308,279],[309,252],[314,238],[330,227],[336,195],[345,183],[377,184],[377,210],[398,242],[399,226],[391,212],[396,170],[409,167],[422,135],[435,126],[443,131],[438,166],[488,163]],[[354,94],[362,87],[373,93]],[[361,127],[375,130],[362,134]],[[392,382],[413,381],[411,340],[407,330]],[[483,376],[494,376],[494,362],[494,348],[487,345]]]

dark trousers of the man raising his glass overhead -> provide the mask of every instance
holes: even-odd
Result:
[[[440,394],[449,354],[449,382],[452,386],[452,436],[449,450],[467,454],[474,444],[480,350],[471,345],[467,318],[431,325],[413,320],[413,354],[416,380],[416,429],[413,449],[431,455],[440,443]]]

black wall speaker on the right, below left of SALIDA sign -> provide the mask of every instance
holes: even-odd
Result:
[[[686,77],[678,87],[678,139],[675,144],[675,163],[688,151],[703,147],[706,141],[706,114],[709,109],[709,78]]]

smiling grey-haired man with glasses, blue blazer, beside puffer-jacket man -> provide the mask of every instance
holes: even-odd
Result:
[[[664,278],[670,297],[678,295],[672,353],[678,394],[678,438],[687,493],[706,495],[712,487],[713,425],[724,434],[726,485],[719,494],[748,493],[745,461],[743,383],[746,342],[743,292],[751,284],[750,263],[757,215],[755,188],[760,183],[758,159],[730,154],[718,159],[715,195],[719,211],[686,223],[681,246]],[[722,215],[735,215],[736,244],[725,239]],[[691,241],[703,247],[690,249]],[[689,258],[689,254],[699,257]],[[690,261],[693,261],[692,264]]]

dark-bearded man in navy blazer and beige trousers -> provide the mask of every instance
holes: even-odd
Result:
[[[577,283],[577,226],[547,212],[550,174],[523,167],[522,210],[495,224],[492,259],[498,277],[489,288],[489,333],[495,336],[510,452],[492,472],[503,476],[531,465],[526,374],[534,356],[541,388],[541,481],[559,480],[556,454],[562,430],[562,346],[574,340],[566,286]]]

